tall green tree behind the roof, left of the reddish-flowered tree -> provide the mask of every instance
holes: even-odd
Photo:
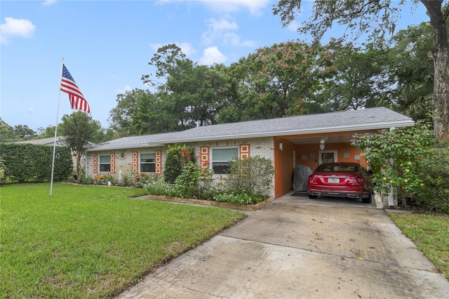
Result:
[[[229,86],[224,65],[198,65],[185,58],[175,44],[163,46],[149,62],[156,67],[156,79],[142,76],[144,84],[158,90],[156,100],[163,102],[166,113],[175,119],[180,129],[215,124],[225,102]]]

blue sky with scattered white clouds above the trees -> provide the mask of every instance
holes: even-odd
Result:
[[[272,14],[277,1],[0,1],[0,117],[8,125],[54,126],[61,60],[103,128],[116,95],[146,89],[142,74],[160,46],[177,44],[203,65],[229,65],[262,46],[300,39]],[[308,18],[304,1],[300,20]],[[299,21],[300,21],[299,20]],[[398,29],[429,20],[419,4]],[[339,29],[328,34],[339,36]],[[71,114],[60,94],[58,122]]]

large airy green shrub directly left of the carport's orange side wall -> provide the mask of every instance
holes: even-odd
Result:
[[[267,196],[275,173],[272,161],[263,157],[249,157],[229,161],[225,188],[229,192]]]

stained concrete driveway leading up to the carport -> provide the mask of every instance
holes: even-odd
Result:
[[[375,204],[284,196],[118,298],[449,298]]]

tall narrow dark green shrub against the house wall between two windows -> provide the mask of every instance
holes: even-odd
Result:
[[[174,184],[176,178],[181,174],[182,168],[189,161],[195,161],[195,152],[192,147],[187,147],[186,145],[169,146],[163,171],[163,177],[166,182]]]

